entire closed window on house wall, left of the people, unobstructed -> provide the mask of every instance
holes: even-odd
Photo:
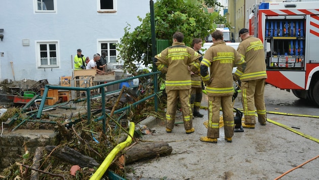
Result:
[[[58,42],[37,42],[37,64],[38,68],[59,67]]]

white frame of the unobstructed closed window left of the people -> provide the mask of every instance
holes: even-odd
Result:
[[[41,49],[40,45],[41,44],[55,44],[55,51],[56,51],[56,65],[41,65]],[[59,40],[36,40],[35,41],[35,58],[36,58],[36,67],[38,69],[42,68],[60,68],[60,42]],[[49,56],[48,56],[48,63],[50,63],[50,50],[49,51]]]

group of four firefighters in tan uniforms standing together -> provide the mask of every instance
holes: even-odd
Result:
[[[243,126],[255,128],[255,107],[258,122],[266,125],[264,87],[267,74],[263,43],[259,38],[249,35],[246,28],[241,29],[239,34],[242,42],[235,50],[226,46],[221,31],[214,31],[214,43],[203,57],[198,51],[202,48],[202,39],[193,39],[193,48],[190,48],[183,43],[183,33],[177,31],[173,34],[172,46],[154,57],[154,65],[162,73],[166,73],[166,132],[171,133],[174,128],[178,98],[186,133],[195,131],[192,126],[193,116],[204,116],[199,112],[203,82],[208,95],[208,131],[207,136],[201,137],[200,140],[217,143],[222,108],[225,140],[231,143],[234,132],[233,80],[238,79],[242,82],[245,116]],[[232,74],[232,68],[235,66],[237,70]]]

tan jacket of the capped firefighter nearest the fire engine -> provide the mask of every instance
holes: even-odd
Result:
[[[259,38],[248,36],[237,51],[246,61],[245,72],[242,66],[238,66],[235,72],[241,81],[267,78],[264,45]]]

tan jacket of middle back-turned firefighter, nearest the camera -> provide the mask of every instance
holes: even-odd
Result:
[[[203,74],[202,66],[208,67],[210,72],[210,75],[202,76],[206,83],[207,95],[213,97],[232,95],[234,93],[232,68],[243,63],[245,63],[244,58],[235,49],[226,46],[226,42],[214,42],[201,62],[201,74]]]

